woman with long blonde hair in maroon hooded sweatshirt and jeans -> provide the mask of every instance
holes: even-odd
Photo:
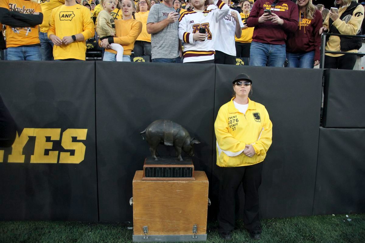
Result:
[[[312,0],[297,1],[300,16],[297,31],[287,40],[288,67],[313,68],[319,64],[322,14]]]

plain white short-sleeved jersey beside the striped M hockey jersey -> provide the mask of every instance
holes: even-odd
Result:
[[[223,19],[219,20],[217,26],[217,33],[215,36],[214,47],[216,51],[221,51],[225,54],[236,56],[236,46],[234,43],[234,35],[236,32],[236,21],[232,17],[231,13],[236,12],[239,18],[239,24],[241,29],[243,23],[241,21],[241,15],[234,9],[230,9],[229,13]]]

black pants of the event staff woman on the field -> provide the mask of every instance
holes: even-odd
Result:
[[[249,166],[219,167],[218,231],[232,231],[235,224],[235,195],[242,182],[245,192],[243,222],[248,231],[261,233],[258,188],[261,185],[262,162]]]

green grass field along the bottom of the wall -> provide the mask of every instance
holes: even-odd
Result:
[[[262,220],[261,240],[251,240],[238,221],[230,242],[365,242],[365,214]],[[0,222],[0,243],[132,242],[131,223]],[[207,243],[223,242],[217,223],[208,222]]]

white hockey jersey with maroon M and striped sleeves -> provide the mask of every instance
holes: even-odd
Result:
[[[215,0],[218,8],[195,12],[185,11],[179,18],[179,38],[184,42],[184,62],[202,62],[214,59],[216,39],[215,26],[223,19],[230,8],[221,0]],[[207,39],[203,42],[193,40],[193,34],[204,28],[207,32]],[[234,38],[234,36],[233,36]]]

